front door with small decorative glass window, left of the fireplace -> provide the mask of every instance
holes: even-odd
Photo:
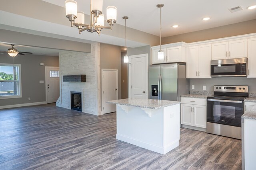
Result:
[[[60,96],[59,67],[45,67],[46,102],[55,103]]]

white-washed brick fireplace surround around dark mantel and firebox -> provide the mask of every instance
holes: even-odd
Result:
[[[100,115],[100,43],[92,44],[91,53],[60,54],[60,98],[56,106],[70,109],[70,92],[81,92],[82,112]],[[86,82],[63,82],[64,75],[86,74]]]

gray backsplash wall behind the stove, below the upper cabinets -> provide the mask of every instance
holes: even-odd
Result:
[[[195,85],[195,89],[192,89],[192,85]],[[206,86],[206,91],[213,92],[214,85],[244,85],[244,86],[249,86],[249,93],[256,93],[256,78],[244,78],[244,77],[190,78],[190,90],[203,91],[203,86]]]

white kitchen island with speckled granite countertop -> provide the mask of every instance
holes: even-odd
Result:
[[[166,154],[180,140],[180,102],[121,99],[116,104],[116,139]]]

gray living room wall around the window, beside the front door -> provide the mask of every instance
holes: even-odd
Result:
[[[59,66],[59,57],[42,55],[0,55],[0,63],[21,64],[22,98],[0,99],[0,106],[45,102],[45,66]],[[44,66],[40,66],[44,63]],[[44,83],[39,83],[44,80]],[[28,100],[28,98],[31,100]]]

